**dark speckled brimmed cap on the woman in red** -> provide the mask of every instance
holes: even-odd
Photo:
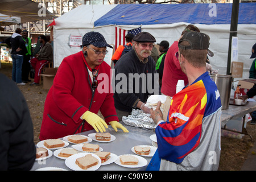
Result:
[[[81,47],[89,46],[90,44],[92,44],[95,47],[108,46],[110,48],[113,48],[108,43],[106,43],[104,36],[101,35],[99,32],[88,32],[84,35],[84,37],[82,38]]]

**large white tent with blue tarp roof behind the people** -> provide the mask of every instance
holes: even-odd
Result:
[[[225,75],[232,4],[216,4],[215,15],[210,15],[214,7],[210,5],[81,5],[55,19],[54,67],[59,67],[64,57],[81,51],[79,46],[70,46],[71,36],[81,38],[86,32],[97,31],[104,35],[106,42],[115,46],[116,27],[126,30],[126,33],[127,30],[141,27],[141,31],[155,36],[156,43],[167,40],[171,45],[187,24],[195,24],[201,32],[210,36],[209,49],[214,52],[214,56],[209,57],[210,64],[218,73]],[[249,77],[253,61],[249,58],[251,47],[256,42],[256,22],[253,18],[256,14],[255,5],[240,3],[237,61],[243,63],[243,78]],[[109,51],[105,61],[110,64],[113,52]]]

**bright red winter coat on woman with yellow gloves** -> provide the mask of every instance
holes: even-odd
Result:
[[[80,117],[87,110],[95,114],[100,110],[106,123],[118,121],[113,93],[110,92],[112,89],[110,66],[105,61],[97,66],[98,87],[93,96],[90,84],[92,81],[86,65],[82,51],[63,59],[46,97],[40,140],[56,139],[92,130],[93,127],[85,121],[84,130],[81,131],[82,119]],[[108,90],[99,93],[98,90],[102,92],[102,88]]]

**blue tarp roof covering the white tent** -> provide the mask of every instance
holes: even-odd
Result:
[[[232,3],[117,5],[94,22],[94,26],[170,23],[230,24]],[[216,12],[216,16],[214,16]],[[210,16],[210,15],[212,16]],[[256,3],[240,3],[238,24],[256,24]]]

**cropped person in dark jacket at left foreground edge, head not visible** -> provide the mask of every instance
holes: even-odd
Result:
[[[30,111],[20,89],[0,73],[0,170],[30,170],[36,147]]]

